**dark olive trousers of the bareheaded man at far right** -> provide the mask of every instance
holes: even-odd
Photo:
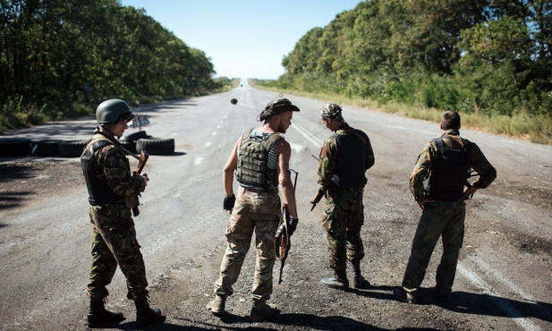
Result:
[[[431,254],[439,237],[442,236],[443,255],[437,267],[436,289],[439,293],[451,292],[463,243],[465,209],[463,201],[436,201],[429,203],[423,209],[412,241],[411,256],[404,272],[405,290],[409,292],[418,290],[428,268]]]

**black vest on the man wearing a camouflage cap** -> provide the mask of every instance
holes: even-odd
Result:
[[[347,133],[332,135],[339,148],[334,174],[339,178],[341,189],[366,185],[366,138],[355,129]]]

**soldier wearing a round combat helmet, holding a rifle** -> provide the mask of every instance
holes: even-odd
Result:
[[[143,327],[160,320],[161,311],[149,308],[146,268],[136,240],[131,208],[146,189],[147,174],[132,174],[121,138],[134,115],[123,100],[110,99],[96,110],[98,128],[81,156],[82,171],[89,191],[92,232],[92,267],[89,274],[89,327],[119,323],[120,312],[105,309],[117,264],[126,277],[127,297],[136,304],[136,323]]]

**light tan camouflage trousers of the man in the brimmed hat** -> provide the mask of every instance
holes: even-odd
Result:
[[[255,233],[257,261],[253,278],[252,297],[255,300],[270,299],[272,271],[276,261],[275,234],[280,220],[280,198],[277,191],[253,191],[239,188],[226,226],[227,246],[215,282],[215,293],[232,295],[233,285],[240,276],[243,259],[251,246]]]

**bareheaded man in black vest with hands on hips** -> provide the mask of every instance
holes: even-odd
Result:
[[[443,238],[443,255],[437,267],[433,295],[440,301],[450,299],[463,242],[464,200],[471,199],[475,191],[488,187],[497,178],[497,170],[480,148],[460,137],[458,113],[449,110],[441,115],[440,128],[443,135],[429,141],[410,177],[410,190],[422,214],[402,287],[394,290],[397,299],[410,303],[418,300],[420,284],[440,236]],[[464,190],[471,169],[480,174],[480,178]],[[428,178],[429,191],[424,185]]]

